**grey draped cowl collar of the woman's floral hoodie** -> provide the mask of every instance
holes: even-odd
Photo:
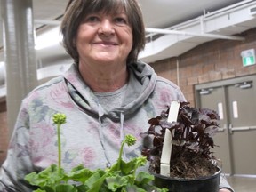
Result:
[[[102,112],[110,118],[120,118],[120,112],[124,113],[125,118],[129,117],[129,115],[132,115],[134,111],[143,105],[145,100],[154,91],[156,73],[153,68],[141,61],[130,63],[127,65],[127,68],[129,71],[129,82],[122,107],[115,108],[109,112],[105,110]],[[68,92],[76,104],[91,113],[92,116],[99,116],[98,99],[91,88],[84,83],[76,64],[71,65],[64,78],[68,86]]]

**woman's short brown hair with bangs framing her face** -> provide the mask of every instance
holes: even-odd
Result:
[[[138,55],[145,46],[145,26],[142,12],[137,0],[69,0],[63,20],[60,25],[60,32],[63,36],[63,45],[68,54],[79,62],[79,55],[74,45],[76,33],[84,18],[92,12],[116,12],[124,9],[128,16],[128,22],[132,28],[132,50],[128,55],[127,63],[138,60]]]

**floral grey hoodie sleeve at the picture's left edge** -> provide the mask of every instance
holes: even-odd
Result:
[[[24,181],[28,172],[32,171],[32,162],[28,150],[28,113],[20,108],[17,122],[12,132],[7,157],[0,169],[0,191],[29,192],[32,189]]]

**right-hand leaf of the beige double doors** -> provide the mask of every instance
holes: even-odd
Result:
[[[234,174],[256,174],[256,84],[227,86],[229,125]]]

